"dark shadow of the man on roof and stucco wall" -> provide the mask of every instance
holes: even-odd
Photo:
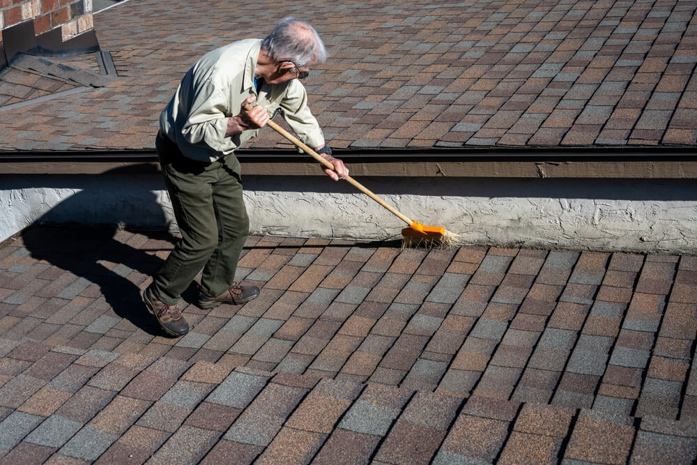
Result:
[[[168,219],[153,192],[164,189],[157,167],[116,168],[65,182],[82,190],[26,229],[25,247],[32,257],[84,278],[77,287],[96,284],[116,316],[146,333],[166,336],[146,310],[140,289],[178,241],[167,230]],[[82,292],[95,296],[94,287]],[[183,300],[192,302],[195,292],[192,283]]]

